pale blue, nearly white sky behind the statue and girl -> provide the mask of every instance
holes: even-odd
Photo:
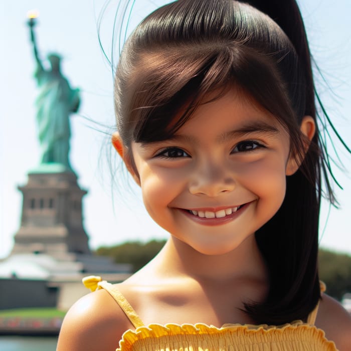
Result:
[[[103,59],[96,28],[96,19],[105,3],[106,0],[3,0],[0,3],[0,258],[11,251],[19,228],[22,198],[17,186],[26,183],[27,172],[37,165],[39,155],[34,61],[26,27],[26,14],[31,9],[40,12],[36,30],[42,58],[52,51],[60,53],[64,57],[64,74],[72,86],[82,89],[81,109],[71,120],[70,158],[79,184],[89,191],[83,211],[91,247],[167,237],[145,213],[136,187],[128,188],[122,182],[111,188],[106,156],[111,148],[102,131],[114,125],[112,74]],[[153,4],[162,3],[166,2],[136,0],[132,24],[150,12]],[[300,4],[312,53],[334,93],[325,84],[318,85],[324,104],[340,134],[351,145],[351,2],[300,0]],[[101,27],[102,44],[108,54],[114,11],[115,5],[111,4]],[[321,81],[319,77],[317,81]],[[350,157],[345,152],[341,152],[341,157],[349,171]],[[344,191],[336,190],[341,210],[331,210],[321,245],[351,254],[351,181],[349,173],[336,170],[335,174],[344,187]],[[327,205],[323,204],[321,228],[326,215]]]

